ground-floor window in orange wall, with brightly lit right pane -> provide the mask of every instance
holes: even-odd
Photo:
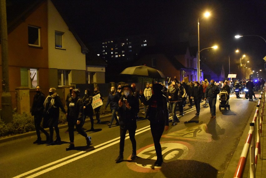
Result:
[[[35,88],[38,85],[37,69],[20,69],[20,81],[22,87]]]

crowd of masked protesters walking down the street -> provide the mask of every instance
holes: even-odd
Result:
[[[189,107],[193,107],[193,100],[196,108],[196,114],[200,113],[200,102],[203,100],[205,104],[209,104],[210,118],[216,118],[216,99],[220,90],[227,91],[228,95],[234,95],[234,88],[240,88],[242,92],[244,89],[248,89],[249,101],[256,99],[254,90],[260,91],[264,86],[264,79],[251,81],[238,81],[238,80],[225,80],[215,82],[213,79],[210,82],[207,79],[200,81],[190,81],[185,83],[184,80],[178,81],[175,77],[174,81],[170,81],[168,88],[162,83],[146,84],[144,91],[138,90],[136,85],[118,85],[117,89],[112,86],[110,94],[108,95],[105,109],[110,105],[111,120],[108,126],[111,127],[113,120],[116,120],[116,126],[120,126],[120,149],[119,156],[116,161],[123,160],[124,142],[126,133],[128,131],[129,137],[132,143],[132,155],[131,159],[136,158],[136,140],[135,131],[137,128],[136,121],[140,118],[139,113],[139,100],[144,106],[145,118],[150,120],[151,133],[155,144],[155,151],[157,154],[157,160],[154,166],[161,166],[163,159],[160,146],[160,138],[164,130],[168,129],[169,121],[172,125],[176,122],[180,122],[178,116],[184,116],[183,110],[186,105],[186,99],[189,99]],[[62,102],[55,88],[50,88],[49,95],[46,97],[42,93],[41,87],[36,87],[36,94],[34,95],[31,113],[34,116],[35,128],[37,133],[37,140],[33,143],[41,144],[42,131],[46,135],[46,144],[55,145],[60,144],[61,138],[59,135],[58,119],[59,108],[63,113],[66,113],[68,121],[68,129],[65,131],[69,133],[70,145],[66,150],[75,149],[74,146],[74,127],[77,132],[86,138],[86,144],[91,144],[91,137],[86,134],[82,126],[86,120],[86,117],[90,118],[91,129],[95,131],[93,120],[93,108],[92,100],[93,96],[100,95],[99,99],[103,101],[103,96],[98,87],[94,88],[94,92],[90,92],[89,89],[84,91],[84,97],[80,97],[80,89],[75,89],[74,86],[70,87],[70,93],[66,97],[67,111],[64,109]],[[179,115],[176,114],[176,108],[178,106]],[[100,124],[100,107],[94,109],[96,116],[96,124]],[[148,109],[147,109],[148,108]],[[117,113],[117,114],[116,114]],[[169,120],[169,113],[172,113],[172,120]],[[43,118],[43,125],[41,127],[41,121]],[[50,133],[46,132],[44,128],[49,128]],[[56,131],[56,140],[53,140],[53,128]]]

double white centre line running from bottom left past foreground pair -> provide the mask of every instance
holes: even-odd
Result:
[[[147,130],[150,130],[150,125],[148,125],[148,126],[146,126],[146,127],[143,127],[143,128],[141,128],[141,129],[137,130],[135,135],[138,135],[138,134],[140,134],[140,133],[142,133],[142,132],[145,132],[145,131],[147,131]],[[128,138],[129,138],[129,134],[126,134],[126,139],[128,139]],[[116,141],[116,140],[117,140],[117,141]],[[115,142],[114,142],[114,141],[115,141]],[[86,153],[86,154],[84,154],[84,156],[90,155],[90,154],[95,153],[95,152],[97,152],[97,151],[100,151],[100,150],[102,150],[102,149],[104,149],[104,148],[107,148],[107,147],[109,147],[109,146],[111,146],[111,145],[114,145],[114,144],[116,144],[116,143],[119,143],[119,141],[120,141],[120,137],[117,137],[117,138],[115,138],[115,139],[113,139],[113,140],[109,140],[109,141],[107,141],[107,142],[105,142],[105,143],[102,143],[102,144],[100,144],[100,145],[96,145],[95,147],[89,148],[89,149],[87,149],[87,150],[85,150],[85,151],[80,151],[80,152],[78,152],[78,153],[76,153],[76,154],[73,154],[73,155],[67,156],[67,157],[62,158],[62,159],[60,159],[60,160],[56,160],[56,161],[54,161],[54,162],[51,162],[51,163],[46,164],[46,165],[43,165],[43,166],[38,167],[38,168],[36,168],[36,169],[33,169],[33,170],[30,170],[30,171],[27,171],[27,172],[25,172],[25,173],[23,173],[23,174],[20,174],[20,175],[17,175],[17,176],[15,176],[15,177],[13,177],[13,178],[19,178],[19,177],[23,177],[23,176],[29,175],[29,174],[31,174],[31,173],[33,173],[33,172],[36,172],[36,171],[41,170],[41,169],[44,169],[44,168],[46,168],[46,167],[49,167],[49,166],[54,165],[54,164],[57,164],[57,163],[59,163],[59,162],[62,162],[62,161],[64,161],[64,160],[70,159],[70,158],[72,158],[72,157],[75,157],[75,156],[80,155],[80,154],[83,154],[83,153]],[[109,144],[109,145],[106,145],[106,144],[108,144],[108,143],[110,143],[110,142],[112,142],[112,143]],[[103,146],[103,145],[106,145],[106,146]],[[103,147],[101,147],[101,146],[103,146]],[[101,147],[101,148],[99,148],[99,147]],[[98,148],[98,149],[96,149],[96,148]],[[93,150],[93,151],[88,152],[89,150]],[[80,159],[80,158],[83,158],[84,156],[83,156],[83,155],[78,156],[78,157],[76,157],[76,158],[73,158],[73,159],[71,159],[71,160],[67,160],[66,162],[63,162],[63,163],[58,164],[58,165],[62,166],[62,165],[68,164],[68,163],[70,163],[70,162],[72,162],[72,161],[75,161],[75,160],[78,160],[78,159]],[[60,166],[58,166],[58,165],[55,165],[55,166],[51,167],[52,169],[51,169],[51,168],[47,168],[47,169],[42,170],[42,171],[40,171],[40,172],[42,172],[41,174],[44,174],[45,172],[43,172],[43,171],[48,172],[48,171],[50,171],[50,169],[51,169],[51,170],[56,169],[57,167],[60,167]],[[41,174],[39,174],[40,172],[38,172],[38,173],[36,173],[36,174],[33,174],[33,175],[35,175],[35,176],[30,175],[29,177],[32,177],[32,176],[33,176],[33,177],[36,177],[36,176],[38,176],[38,175],[41,175]]]

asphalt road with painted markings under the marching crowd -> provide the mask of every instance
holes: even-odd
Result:
[[[88,131],[89,122],[84,125],[92,138],[90,146],[86,146],[85,138],[75,132],[76,150],[65,150],[69,145],[65,129],[60,130],[60,145],[32,144],[36,135],[1,143],[0,175],[4,178],[222,178],[257,104],[257,100],[249,101],[244,95],[240,96],[239,99],[235,95],[230,98],[230,110],[227,111],[224,108],[219,111],[217,99],[216,119],[210,119],[209,105],[204,101],[199,117],[195,116],[195,106],[185,106],[185,115],[179,117],[180,123],[170,125],[161,138],[162,167],[152,166],[156,154],[148,120],[137,121],[137,158],[130,159],[132,147],[127,137],[124,161],[120,163],[115,162],[119,153],[119,126],[109,128],[106,120],[100,125],[95,124],[95,132]],[[43,134],[42,138],[45,138]]]

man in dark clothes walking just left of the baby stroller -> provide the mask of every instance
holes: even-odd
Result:
[[[214,80],[210,81],[210,84],[205,90],[205,97],[204,100],[208,98],[209,101],[209,107],[210,107],[210,118],[216,118],[216,100],[217,100],[217,94],[220,93],[219,87],[214,84]]]

